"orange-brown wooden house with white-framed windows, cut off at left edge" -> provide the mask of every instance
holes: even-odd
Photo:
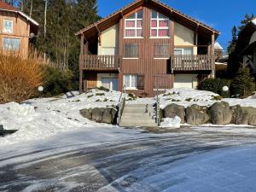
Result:
[[[0,1],[0,45],[27,56],[29,43],[38,34],[38,22],[15,7]]]

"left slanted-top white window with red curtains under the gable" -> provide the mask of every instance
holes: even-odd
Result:
[[[125,19],[125,38],[143,37],[143,10]]]

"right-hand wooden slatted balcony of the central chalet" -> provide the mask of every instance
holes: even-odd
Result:
[[[211,71],[214,69],[214,55],[172,55],[172,71]]]

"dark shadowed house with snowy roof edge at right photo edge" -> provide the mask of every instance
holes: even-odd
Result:
[[[241,63],[256,73],[256,18],[248,22],[238,35],[236,53]]]

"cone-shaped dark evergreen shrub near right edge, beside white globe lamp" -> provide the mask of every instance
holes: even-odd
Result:
[[[253,94],[255,83],[250,69],[244,67],[238,70],[230,90],[232,95],[239,95],[240,97],[251,96]]]

